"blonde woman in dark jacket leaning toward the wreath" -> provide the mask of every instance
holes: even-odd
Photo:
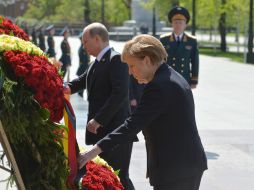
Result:
[[[122,60],[139,83],[146,84],[140,104],[124,124],[80,156],[82,167],[101,152],[130,141],[142,130],[147,177],[154,190],[198,190],[206,155],[198,134],[191,88],[164,62],[167,53],[156,38],[140,35],[125,44]]]

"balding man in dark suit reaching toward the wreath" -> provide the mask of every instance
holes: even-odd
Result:
[[[129,74],[127,65],[121,62],[120,54],[110,48],[108,31],[104,25],[92,23],[85,27],[83,44],[87,53],[96,57],[96,60],[68,86],[71,93],[87,90],[89,107],[86,144],[90,145],[112,132],[128,117]],[[68,88],[65,93],[68,93]],[[115,170],[120,170],[119,177],[126,190],[134,189],[129,179],[134,139],[100,154]]]

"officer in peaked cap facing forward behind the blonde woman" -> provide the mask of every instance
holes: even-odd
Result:
[[[167,64],[180,73],[191,88],[196,88],[199,70],[197,40],[184,32],[190,14],[187,9],[177,6],[168,13],[168,20],[172,24],[173,32],[160,37],[168,53]]]

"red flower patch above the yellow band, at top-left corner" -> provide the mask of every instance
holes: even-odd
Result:
[[[0,16],[0,34],[17,36],[23,40],[29,41],[29,36],[17,25],[13,24],[8,18]]]

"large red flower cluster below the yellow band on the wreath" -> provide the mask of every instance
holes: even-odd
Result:
[[[5,62],[17,77],[24,79],[34,91],[34,98],[50,111],[51,121],[58,122],[63,117],[63,81],[54,65],[46,57],[29,55],[20,51],[6,51]]]

